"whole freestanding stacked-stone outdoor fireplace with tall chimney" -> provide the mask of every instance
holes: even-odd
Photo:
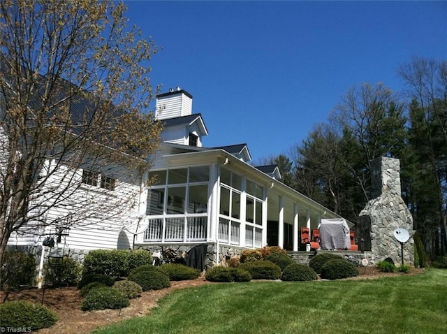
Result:
[[[372,263],[391,258],[400,264],[401,245],[393,235],[397,228],[412,234],[413,217],[401,197],[399,159],[380,157],[371,161],[372,200],[360,212],[359,249]],[[404,263],[414,263],[413,239],[404,245]]]

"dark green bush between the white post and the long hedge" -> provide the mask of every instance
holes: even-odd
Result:
[[[64,256],[50,259],[45,273],[45,283],[52,286],[76,286],[82,275],[80,263]]]

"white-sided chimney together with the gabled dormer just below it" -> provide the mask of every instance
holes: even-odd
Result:
[[[164,143],[202,147],[208,131],[201,114],[192,114],[193,96],[180,87],[156,96],[155,116],[164,124]]]

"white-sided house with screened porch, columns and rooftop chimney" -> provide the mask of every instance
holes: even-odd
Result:
[[[140,179],[135,178],[138,173],[114,177],[75,171],[82,187],[73,196],[97,204],[101,197],[112,196],[122,210],[98,224],[89,217],[88,224],[71,226],[57,247],[80,252],[175,246],[187,251],[206,244],[219,262],[241,249],[265,245],[309,251],[301,228],[312,231],[323,218],[342,218],[283,184],[277,166],[252,166],[246,144],[205,147],[208,130],[202,115],[192,112],[192,100],[179,88],[157,96],[156,117],[165,126],[162,143],[147,158],[152,168]],[[150,187],[147,180],[152,180]],[[124,198],[131,203],[120,203]],[[64,209],[51,210],[48,219],[57,219],[58,210]],[[71,215],[77,215],[76,210]],[[58,231],[52,226],[46,233]],[[13,235],[9,245],[41,245],[42,240],[32,234]]]

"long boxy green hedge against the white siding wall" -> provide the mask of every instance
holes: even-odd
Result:
[[[144,249],[96,249],[84,259],[87,274],[103,274],[114,279],[126,277],[131,270],[147,264],[152,264],[152,256]]]

